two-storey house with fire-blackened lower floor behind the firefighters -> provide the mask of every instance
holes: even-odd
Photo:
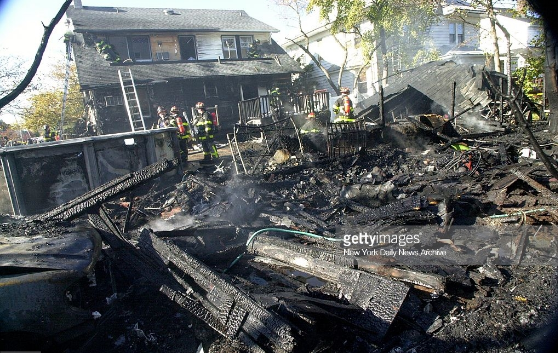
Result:
[[[118,71],[134,77],[146,126],[157,106],[191,112],[219,106],[222,125],[238,102],[290,83],[300,66],[244,11],[74,6],[72,49],[88,119],[102,134],[130,131]]]

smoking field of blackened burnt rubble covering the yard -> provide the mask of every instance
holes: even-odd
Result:
[[[194,160],[182,171],[165,161],[45,214],[6,218],[5,237],[54,240],[82,227],[104,244],[70,301],[97,313],[93,325],[23,348],[545,348],[558,181],[520,127],[454,123],[410,116],[333,154],[305,149],[293,120],[251,128],[229,136],[222,163]],[[528,129],[555,160],[546,123]],[[381,234],[395,242],[372,240]],[[19,337],[2,335],[6,348]]]

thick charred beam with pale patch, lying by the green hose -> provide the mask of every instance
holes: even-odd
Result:
[[[273,237],[255,238],[248,252],[336,283],[339,295],[363,310],[358,324],[375,339],[387,333],[409,290],[403,283],[354,269],[354,259]]]

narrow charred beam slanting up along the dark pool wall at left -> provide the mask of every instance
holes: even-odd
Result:
[[[166,173],[179,165],[178,159],[163,160],[157,162],[140,171],[132,172],[113,179],[85,194],[68,201],[53,210],[37,215],[34,219],[47,220],[71,220],[76,218],[87,210],[100,206],[103,202],[133,187],[141,185],[153,178]]]

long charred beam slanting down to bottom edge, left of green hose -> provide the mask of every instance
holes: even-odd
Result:
[[[204,299],[219,308],[219,319],[227,327],[225,337],[240,339],[249,347],[254,347],[255,342],[274,352],[294,349],[291,327],[280,317],[171,241],[159,239],[152,233],[148,234],[147,241],[162,261],[172,264],[185,279],[195,282],[205,292]]]

